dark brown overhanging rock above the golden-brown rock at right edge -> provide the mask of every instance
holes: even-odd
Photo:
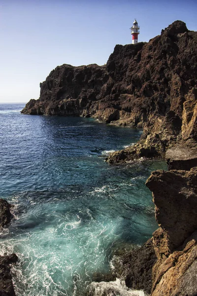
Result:
[[[172,251],[197,229],[197,167],[152,172],[146,186],[153,192],[155,217],[166,231]]]

